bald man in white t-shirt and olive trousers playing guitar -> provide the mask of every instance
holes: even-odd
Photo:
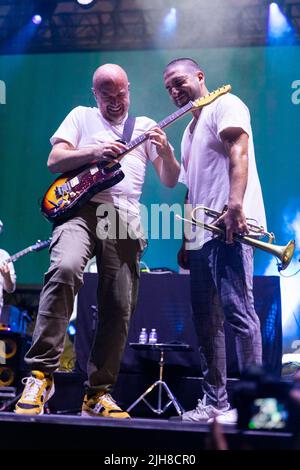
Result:
[[[94,161],[114,160],[126,149],[126,145],[116,142],[123,136],[129,108],[125,71],[115,64],[99,67],[93,76],[93,92],[97,107],[75,108],[51,138],[53,149],[48,167],[52,172],[68,172]],[[51,265],[41,293],[33,345],[26,355],[32,375],[16,405],[18,414],[42,414],[44,403],[54,393],[53,372],[59,366],[74,297],[82,285],[86,263],[96,255],[99,323],[87,368],[82,414],[129,418],[110,392],[117,380],[137,299],[142,240],[138,233],[137,238],[118,236],[118,230],[129,231],[120,214],[126,213],[130,227],[138,227],[139,198],[148,162],[169,187],[176,184],[180,171],[165,133],[153,126],[155,122],[151,119],[136,118],[133,136],[149,130],[149,139],[122,159],[124,179],[96,194],[72,218],[55,225]],[[110,211],[107,216],[103,211],[102,218],[97,220],[96,211],[103,205],[114,209],[113,216]],[[105,238],[115,220],[119,222],[116,236]]]

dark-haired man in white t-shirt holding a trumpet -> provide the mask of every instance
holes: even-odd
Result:
[[[192,59],[170,62],[164,83],[179,108],[209,93],[204,72]],[[203,231],[201,244],[188,252],[204,380],[203,399],[194,410],[184,413],[182,420],[203,423],[216,418],[233,424],[237,416],[226,391],[224,319],[235,334],[240,370],[262,362],[260,323],[253,300],[253,248],[233,242],[233,234],[249,233],[246,216],[266,228],[246,105],[237,96],[226,94],[194,111],[183,134],[181,153],[179,181],[188,188],[189,204],[220,212],[215,223],[226,233],[224,243],[210,231]],[[211,223],[211,218],[203,215],[204,221]],[[184,247],[179,259],[187,259]]]

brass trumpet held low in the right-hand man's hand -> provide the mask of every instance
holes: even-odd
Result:
[[[223,228],[217,227],[216,225],[213,224],[206,224],[200,220],[197,219],[197,211],[202,210],[204,213],[217,220],[221,215],[224,214],[226,209],[224,208],[223,212],[218,212],[214,209],[210,209],[209,207],[205,207],[202,205],[196,206],[192,212],[191,212],[191,220],[186,219],[184,217],[181,217],[179,215],[176,216],[177,219],[184,220],[185,222],[189,222],[192,225],[197,225],[198,227],[202,227],[205,230],[209,230],[210,232],[213,232],[215,235],[218,235],[222,238],[225,238],[225,230]],[[248,219],[249,220],[249,219]],[[288,267],[290,264],[294,251],[295,251],[295,240],[290,240],[287,245],[281,246],[281,245],[274,245],[273,241],[275,240],[275,236],[272,232],[266,232],[264,231],[263,227],[260,227],[258,225],[252,224],[252,223],[247,223],[249,230],[252,231],[253,236],[251,235],[239,235],[239,234],[234,234],[233,239],[234,241],[239,241],[240,243],[244,243],[246,245],[250,245],[254,248],[259,248],[263,251],[266,251],[267,253],[270,253],[271,255],[276,256],[280,260],[280,265],[278,266],[278,271],[283,271]],[[268,236],[268,241],[263,242],[262,240],[259,240],[258,238],[254,237],[264,237]]]

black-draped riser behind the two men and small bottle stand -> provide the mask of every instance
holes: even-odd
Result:
[[[98,276],[84,274],[84,285],[78,295],[77,334],[75,350],[76,370],[86,371],[87,358],[96,327]],[[254,277],[254,300],[261,322],[263,361],[273,375],[281,374],[282,329],[280,280],[278,276]],[[182,376],[201,375],[198,341],[192,321],[190,280],[182,274],[142,273],[138,302],[133,315],[128,342],[122,358],[121,371],[144,373],[157,367],[158,358],[153,352],[135,351],[130,342],[138,341],[141,328],[148,332],[156,328],[159,342],[182,342],[190,344],[193,352],[170,352],[165,354],[166,365],[176,365]],[[229,377],[239,374],[235,351],[235,338],[229,325],[225,324],[227,371]]]

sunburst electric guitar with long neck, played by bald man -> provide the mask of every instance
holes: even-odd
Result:
[[[207,96],[189,101],[185,106],[172,113],[157,124],[157,127],[164,129],[185,114],[195,111],[212,103],[222,95],[231,90],[230,85],[225,85],[209,93]],[[127,149],[117,155],[117,159],[124,157],[132,149],[138,147],[147,140],[144,134],[128,143]],[[42,214],[51,222],[70,217],[74,210],[77,210],[96,193],[104,189],[111,188],[124,178],[124,173],[120,163],[98,162],[92,165],[85,165],[74,171],[63,173],[51,184],[46,191],[42,202]]]

